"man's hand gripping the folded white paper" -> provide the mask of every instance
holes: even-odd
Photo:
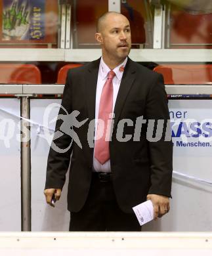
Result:
[[[151,200],[154,206],[154,220],[162,217],[169,211],[169,198],[156,194],[148,194],[147,200]]]

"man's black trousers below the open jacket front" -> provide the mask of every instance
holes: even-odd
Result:
[[[116,202],[112,181],[100,181],[93,174],[83,209],[71,212],[70,231],[140,231],[134,213],[123,213]]]

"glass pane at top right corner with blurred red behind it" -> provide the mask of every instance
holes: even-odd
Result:
[[[170,23],[170,27],[166,27],[167,47],[211,49],[212,2],[169,0],[166,3],[167,22]]]

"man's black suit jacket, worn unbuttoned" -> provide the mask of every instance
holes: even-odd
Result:
[[[69,70],[64,88],[62,106],[70,113],[80,112],[78,121],[95,119],[95,96],[100,59],[80,68]],[[146,139],[146,126],[142,125],[139,141],[133,138],[127,142],[117,140],[117,124],[120,119],[137,117],[144,119],[169,119],[167,96],[163,77],[128,58],[114,108],[115,119],[110,142],[110,162],[112,182],[119,207],[126,213],[132,207],[146,200],[147,194],[171,196],[172,154],[171,141],[164,136],[158,142]],[[60,109],[59,114],[64,114]],[[68,186],[68,209],[79,211],[88,196],[93,167],[93,148],[89,147],[87,132],[89,121],[79,128],[74,128],[82,149],[73,142],[72,148],[58,154],[52,148],[47,163],[45,188],[62,188],[66,171],[73,152]],[[56,130],[62,121],[56,122]],[[135,127],[125,125],[123,137],[133,135]],[[60,148],[66,148],[72,141],[68,135],[54,140]]]

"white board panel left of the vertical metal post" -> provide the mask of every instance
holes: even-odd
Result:
[[[14,116],[15,115],[15,116]],[[20,100],[0,98],[0,232],[21,230]]]

